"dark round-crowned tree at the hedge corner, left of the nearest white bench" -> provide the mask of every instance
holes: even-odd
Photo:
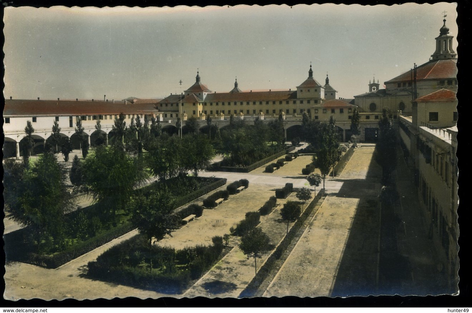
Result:
[[[180,219],[173,214],[174,206],[168,193],[146,195],[142,192],[130,202],[131,222],[144,234],[152,247],[152,238],[160,240],[180,227]]]

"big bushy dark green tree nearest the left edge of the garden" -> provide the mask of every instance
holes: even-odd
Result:
[[[43,241],[57,244],[63,238],[64,215],[74,205],[67,191],[66,173],[52,153],[43,153],[16,185],[17,201],[5,198],[13,220],[34,232],[39,252]]]

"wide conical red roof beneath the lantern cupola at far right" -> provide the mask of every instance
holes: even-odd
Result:
[[[421,79],[450,79],[457,76],[457,60],[435,60],[422,64],[416,68],[416,80]],[[385,82],[405,82],[411,81],[410,71],[392,78]]]

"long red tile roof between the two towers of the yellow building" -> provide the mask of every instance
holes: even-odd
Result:
[[[205,102],[218,101],[275,101],[296,99],[296,91],[222,92],[209,93]]]

